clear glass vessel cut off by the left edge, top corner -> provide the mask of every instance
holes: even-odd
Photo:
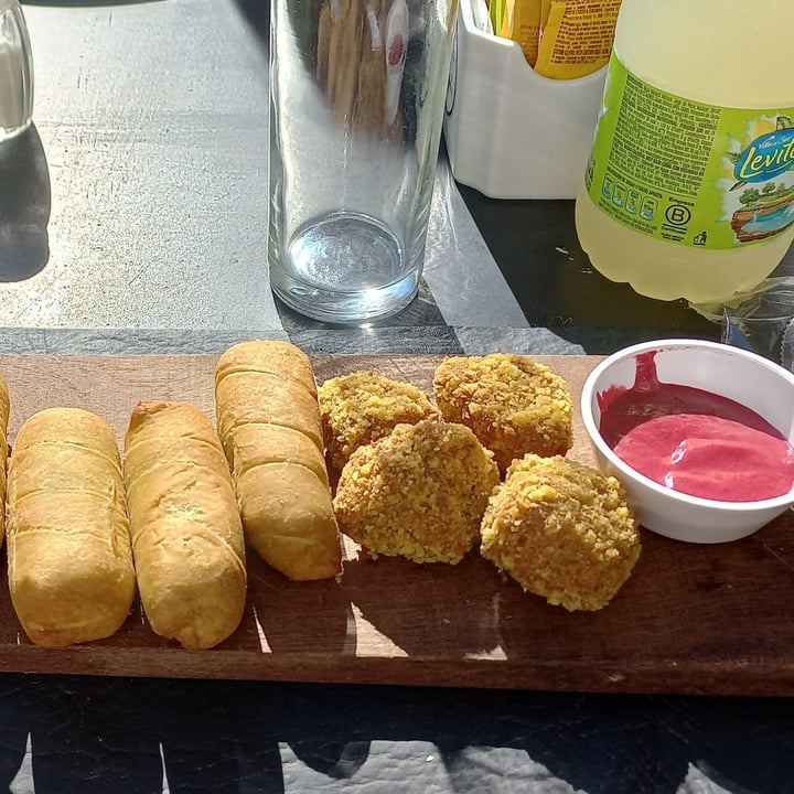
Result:
[[[0,0],[0,141],[30,127],[33,58],[19,0]]]

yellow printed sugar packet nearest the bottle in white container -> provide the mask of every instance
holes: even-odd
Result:
[[[573,79],[610,58],[621,0],[550,0],[535,71]]]

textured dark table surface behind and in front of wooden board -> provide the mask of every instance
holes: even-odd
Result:
[[[458,186],[422,290],[367,330],[277,305],[264,267],[264,0],[28,2],[34,127],[0,148],[0,351],[608,353],[719,339],[602,278],[572,202]],[[730,615],[726,615],[730,620]],[[787,699],[0,674],[0,790],[782,794]]]

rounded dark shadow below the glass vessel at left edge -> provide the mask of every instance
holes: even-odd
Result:
[[[35,125],[0,146],[0,281],[22,281],[50,258],[51,191]]]

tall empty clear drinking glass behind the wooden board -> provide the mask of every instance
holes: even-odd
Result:
[[[421,278],[458,0],[271,0],[268,261],[298,312],[365,324]]]

